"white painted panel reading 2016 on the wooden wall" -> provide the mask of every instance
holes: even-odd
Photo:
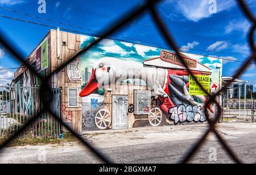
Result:
[[[71,62],[70,64],[68,64],[67,72],[69,81],[80,81],[82,78],[79,62]]]

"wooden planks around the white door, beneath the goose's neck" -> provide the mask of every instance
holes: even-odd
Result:
[[[108,89],[112,89],[111,92]],[[109,87],[105,87],[105,102],[109,103],[109,107],[105,107],[105,109],[110,111],[110,115],[112,115],[113,120],[113,95],[126,95],[128,96],[128,105],[134,105],[134,90],[147,90],[147,86],[142,85],[128,85],[128,84],[115,84],[115,86],[111,85]],[[133,124],[135,122],[134,113],[128,113],[128,128],[133,128]]]

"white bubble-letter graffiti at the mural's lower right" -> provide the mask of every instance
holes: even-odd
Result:
[[[205,115],[205,109],[197,105],[179,105],[169,109],[170,119],[177,123],[184,122],[205,122],[207,116]]]

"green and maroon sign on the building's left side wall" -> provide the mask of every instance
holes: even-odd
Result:
[[[48,68],[48,38],[36,50],[36,70],[42,72]]]

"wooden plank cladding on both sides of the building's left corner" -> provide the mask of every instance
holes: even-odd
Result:
[[[65,61],[67,61],[69,58],[75,55],[77,51],[79,51],[80,35],[60,31],[61,56],[59,59],[57,59],[57,31],[49,31],[46,37],[48,37],[48,69],[46,70],[46,76],[48,76],[55,69],[61,66]],[[42,43],[42,41],[40,43]],[[67,45],[62,45],[63,41],[65,41]],[[40,43],[38,45],[40,45]],[[28,56],[26,60],[30,65],[32,65],[36,61],[36,48],[34,49],[34,51],[31,52],[30,56]],[[75,61],[80,62],[80,57],[77,58]],[[24,68],[24,66],[20,66],[20,68],[15,72],[15,79],[18,78],[20,74],[24,72],[24,70],[26,70],[26,68]],[[68,118],[71,120],[72,127],[75,129],[75,131],[80,132],[82,128],[82,99],[79,98],[79,107],[68,108],[68,87],[78,88],[80,93],[81,81],[69,81],[66,68],[64,68],[63,70],[61,70],[61,72],[56,74],[56,79],[56,87],[63,88],[62,105],[63,107],[66,107],[66,113],[64,114],[64,118],[65,115],[69,114],[70,116]],[[49,81],[49,85],[51,85],[51,87],[54,87],[54,80],[55,78],[54,76],[52,76],[51,80]]]

